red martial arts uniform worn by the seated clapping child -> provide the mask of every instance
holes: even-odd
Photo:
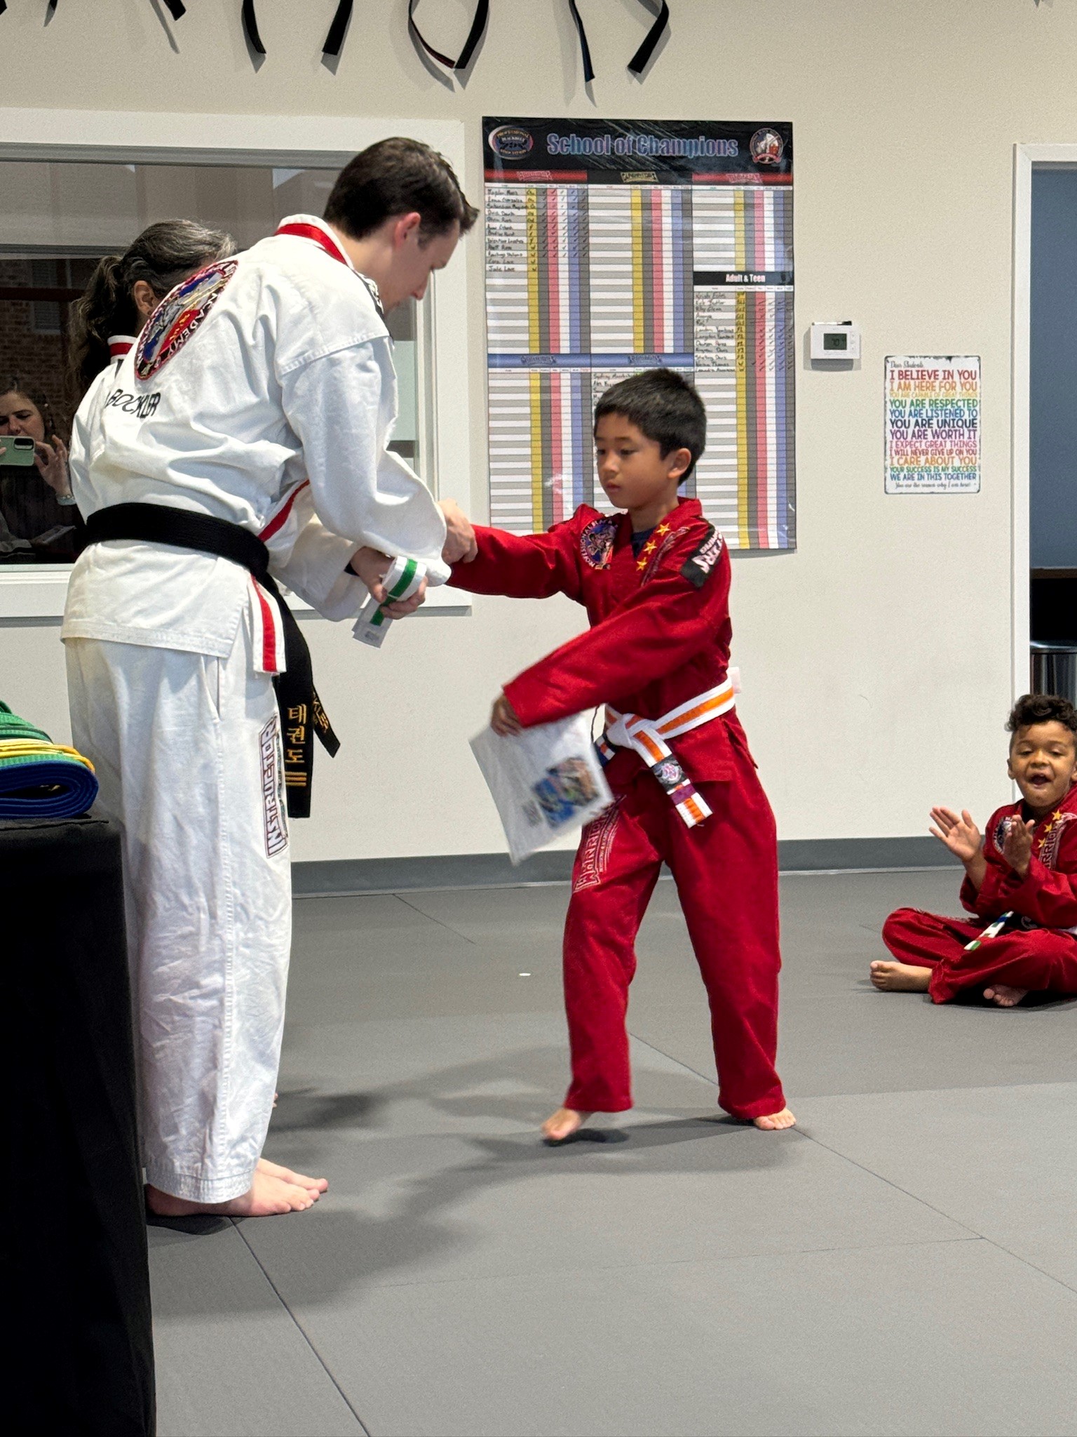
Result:
[[[932,969],[928,992],[935,1003],[992,983],[1077,993],[1077,787],[1037,823],[1025,878],[1002,858],[1007,821],[1021,813],[1021,803],[1010,803],[991,815],[984,882],[979,892],[968,878],[961,885],[961,901],[976,915],[974,923],[899,908],[883,924],[883,943],[900,963]],[[1008,927],[966,953],[965,944],[1004,912],[1025,925]]]

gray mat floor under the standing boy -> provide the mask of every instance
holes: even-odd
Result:
[[[563,887],[299,902],[267,1155],[330,1193],[151,1229],[162,1437],[1077,1434],[1077,1004],[866,980],[955,890],[783,879],[800,1125],[761,1134],[659,884],[638,1106],[556,1150]]]

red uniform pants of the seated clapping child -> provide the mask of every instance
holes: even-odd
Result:
[[[985,927],[899,908],[883,924],[883,943],[900,963],[932,969],[928,993],[935,1003],[992,983],[1037,993],[1077,993],[1077,938],[1057,928],[1015,928],[965,953],[965,944]]]

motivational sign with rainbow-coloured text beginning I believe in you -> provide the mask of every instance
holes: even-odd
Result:
[[[979,355],[886,356],[886,493],[979,493]]]

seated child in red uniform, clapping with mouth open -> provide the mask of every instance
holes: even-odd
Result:
[[[1007,772],[1022,802],[992,813],[982,842],[966,812],[931,810],[932,833],[965,865],[961,901],[975,917],[892,912],[883,943],[899,961],[872,964],[877,989],[936,1003],[982,989],[999,1007],[1032,990],[1077,993],[1077,710],[1025,694],[1007,729]]]

